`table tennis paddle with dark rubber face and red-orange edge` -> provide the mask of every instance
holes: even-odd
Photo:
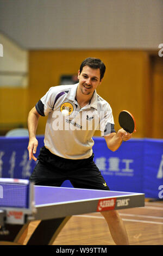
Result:
[[[133,115],[126,110],[123,110],[120,112],[119,117],[119,124],[120,126],[129,133],[136,132],[136,124],[135,124],[135,118]]]

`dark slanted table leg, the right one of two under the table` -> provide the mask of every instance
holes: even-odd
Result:
[[[52,245],[61,229],[70,220],[71,216],[43,220],[39,223],[27,245]]]

